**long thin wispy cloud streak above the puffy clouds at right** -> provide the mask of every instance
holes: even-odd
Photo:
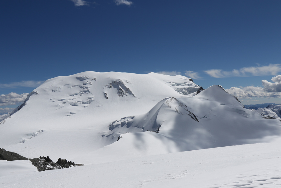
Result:
[[[205,73],[215,78],[226,77],[249,77],[249,76],[269,76],[277,75],[281,72],[280,64],[269,64],[268,66],[261,67],[243,67],[239,70],[233,69],[232,71],[224,71],[221,69],[204,70]]]

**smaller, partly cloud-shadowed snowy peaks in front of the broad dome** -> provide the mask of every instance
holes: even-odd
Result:
[[[216,85],[193,97],[166,98],[146,114],[118,119],[108,128],[102,136],[119,141],[81,156],[84,163],[270,142],[281,135],[279,120],[243,108]]]

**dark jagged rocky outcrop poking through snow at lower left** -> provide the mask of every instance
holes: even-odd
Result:
[[[75,164],[74,162],[67,161],[66,159],[58,158],[57,162],[53,162],[49,156],[39,157],[34,159],[28,159],[17,153],[6,151],[5,149],[0,148],[0,160],[15,161],[15,160],[29,160],[31,163],[36,166],[38,172],[45,170],[53,169],[63,169],[70,168],[75,166],[83,166],[83,164]]]

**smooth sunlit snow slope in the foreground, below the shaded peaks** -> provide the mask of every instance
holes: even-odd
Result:
[[[0,187],[280,187],[280,141],[29,170],[1,176]]]

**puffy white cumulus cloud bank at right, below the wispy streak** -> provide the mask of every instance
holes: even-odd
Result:
[[[262,80],[263,87],[231,87],[225,91],[236,97],[278,97],[281,98],[281,75],[271,79],[273,82]]]

